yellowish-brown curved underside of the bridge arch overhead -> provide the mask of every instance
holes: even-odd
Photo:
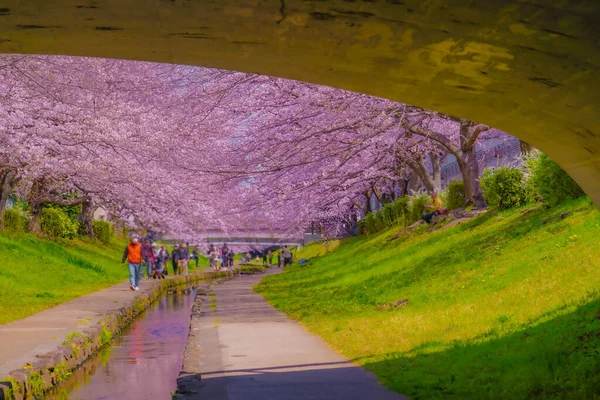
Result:
[[[0,53],[201,65],[484,122],[600,204],[596,0],[4,0]]]

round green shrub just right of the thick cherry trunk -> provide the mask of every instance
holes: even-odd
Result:
[[[523,171],[513,167],[486,168],[479,178],[483,199],[492,208],[506,210],[527,201]]]

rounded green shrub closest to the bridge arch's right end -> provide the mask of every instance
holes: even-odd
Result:
[[[585,193],[556,162],[544,153],[534,153],[525,160],[528,170],[529,197],[541,197],[547,205],[574,199]]]

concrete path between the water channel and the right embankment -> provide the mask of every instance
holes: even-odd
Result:
[[[204,297],[202,313],[192,318],[177,398],[405,399],[256,294],[252,287],[263,276],[236,278]]]

